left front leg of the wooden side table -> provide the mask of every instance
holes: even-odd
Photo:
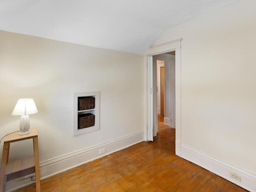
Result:
[[[10,148],[10,143],[4,143],[1,169],[0,169],[0,192],[5,191],[4,174],[5,174],[6,164],[8,163],[9,148]]]

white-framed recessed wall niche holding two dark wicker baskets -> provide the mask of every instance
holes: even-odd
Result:
[[[100,92],[74,93],[74,136],[100,129]]]

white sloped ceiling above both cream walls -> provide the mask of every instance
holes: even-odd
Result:
[[[237,1],[0,0],[0,30],[144,54],[167,28]]]

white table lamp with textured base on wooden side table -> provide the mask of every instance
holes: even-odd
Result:
[[[26,135],[30,132],[29,127],[29,116],[30,114],[37,113],[38,110],[36,108],[36,104],[33,99],[19,99],[16,106],[14,107],[14,110],[12,112],[12,115],[21,115],[20,118],[20,135]]]

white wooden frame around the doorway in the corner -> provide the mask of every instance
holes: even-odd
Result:
[[[175,153],[181,156],[181,40],[174,40],[149,48],[144,56],[144,140],[153,140],[152,56],[175,50]],[[156,113],[156,111],[155,111]]]

